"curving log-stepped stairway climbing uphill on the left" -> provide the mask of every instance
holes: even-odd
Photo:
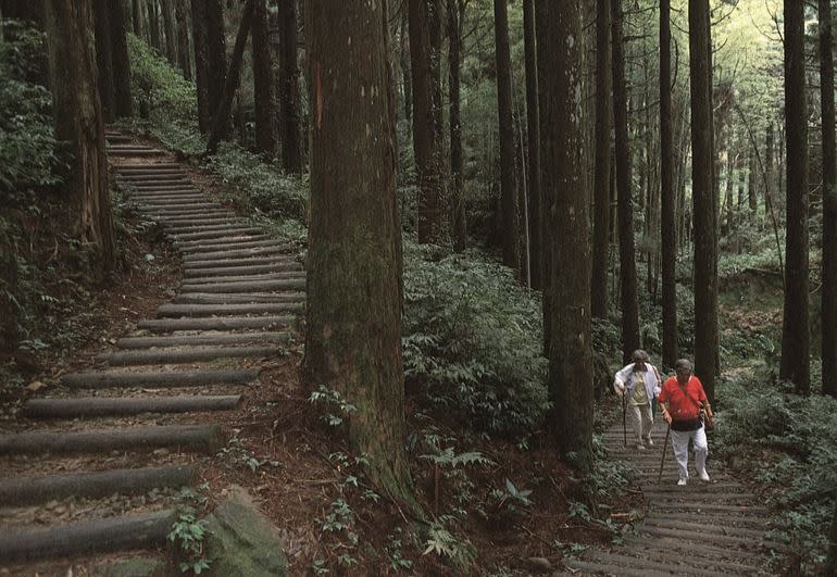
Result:
[[[178,249],[183,285],[0,435],[0,569],[12,574],[164,544],[177,489],[226,444],[217,412],[259,386],[304,309],[297,247],[222,208],[167,153],[107,137],[124,198]]]

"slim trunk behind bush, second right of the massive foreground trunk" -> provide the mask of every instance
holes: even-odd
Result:
[[[448,0],[448,35],[450,51],[448,53],[449,89],[449,125],[450,125],[450,173],[451,203],[453,209],[453,248],[465,250],[466,219],[465,197],[462,188],[462,125],[460,114],[460,71],[462,67],[462,18],[465,12],[463,0]],[[402,32],[403,37],[403,32]]]

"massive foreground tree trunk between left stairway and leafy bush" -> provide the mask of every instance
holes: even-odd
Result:
[[[371,480],[412,502],[404,452],[393,98],[385,2],[309,0],[311,227],[304,372],[358,407]]]

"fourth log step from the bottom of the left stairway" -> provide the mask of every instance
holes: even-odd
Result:
[[[141,413],[187,413],[233,411],[241,402],[240,394],[223,397],[88,397],[85,399],[32,399],[23,405],[29,418],[80,418],[139,415]]]

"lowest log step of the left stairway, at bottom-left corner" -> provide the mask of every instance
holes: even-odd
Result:
[[[7,563],[112,553],[164,545],[174,511],[88,520],[0,534],[0,560]]]

